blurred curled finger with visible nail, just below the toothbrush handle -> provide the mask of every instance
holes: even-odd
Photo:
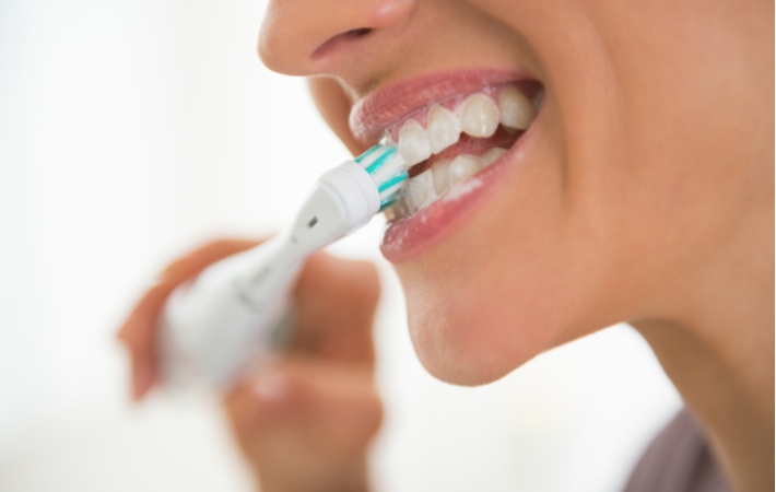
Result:
[[[349,454],[379,427],[383,408],[366,366],[295,359],[247,378],[227,397],[240,444]]]

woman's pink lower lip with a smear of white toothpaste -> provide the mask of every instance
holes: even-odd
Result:
[[[543,113],[537,115],[530,128],[502,159],[425,209],[388,224],[380,245],[383,256],[392,263],[408,261],[433,249],[462,227],[498,192],[499,185],[508,183],[508,175],[525,161]]]

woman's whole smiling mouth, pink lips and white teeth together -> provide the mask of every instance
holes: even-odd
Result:
[[[384,210],[381,249],[391,261],[425,249],[467,208],[462,202],[475,201],[474,188],[508,160],[544,98],[540,82],[503,72],[467,71],[423,82],[383,90],[351,114],[357,138],[395,144],[410,166],[404,189]]]

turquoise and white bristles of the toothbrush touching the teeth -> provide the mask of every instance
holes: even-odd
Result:
[[[354,160],[369,174],[380,194],[380,210],[390,206],[407,187],[410,175],[404,157],[395,145],[378,143]]]

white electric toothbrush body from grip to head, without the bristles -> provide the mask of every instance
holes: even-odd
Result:
[[[164,384],[226,389],[248,362],[277,351],[279,335],[289,336],[278,329],[291,316],[292,290],[307,256],[365,225],[379,207],[371,176],[348,161],[318,179],[283,234],[176,289],[160,323]]]

